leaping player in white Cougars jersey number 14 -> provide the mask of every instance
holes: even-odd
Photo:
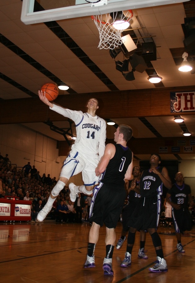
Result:
[[[46,205],[37,216],[37,220],[42,222],[52,209],[54,200],[65,187],[71,176],[82,172],[84,181],[84,185],[78,187],[70,183],[71,201],[75,201],[77,192],[82,192],[87,195],[93,192],[93,186],[98,182],[98,177],[95,175],[95,168],[105,149],[106,122],[95,114],[96,110],[99,108],[98,100],[95,98],[88,100],[87,113],[73,111],[52,104],[42,91],[39,91],[39,98],[53,111],[73,120],[76,125],[77,133],[75,144],[72,145],[69,156],[66,158],[64,166],[62,167],[60,178],[52,189]]]

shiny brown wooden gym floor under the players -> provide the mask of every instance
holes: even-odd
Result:
[[[88,243],[89,223],[0,223],[0,277],[3,283],[189,283],[194,282],[195,271],[195,225],[184,233],[182,244],[185,253],[176,249],[174,229],[159,226],[168,272],[153,273],[148,268],[156,260],[156,253],[149,234],[145,249],[148,259],[138,258],[139,232],[132,252],[132,264],[121,268],[126,243],[114,250],[114,276],[104,276],[102,262],[105,257],[105,227],[95,249],[96,268],[83,268]],[[116,227],[120,237],[121,223]]]

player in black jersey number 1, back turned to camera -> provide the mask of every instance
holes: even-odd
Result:
[[[88,254],[84,268],[95,267],[94,249],[98,242],[99,228],[106,226],[106,257],[103,261],[105,275],[113,275],[112,255],[116,241],[115,228],[125,201],[126,190],[124,179],[129,180],[132,174],[133,153],[126,146],[132,137],[132,129],[119,125],[115,132],[116,144],[107,144],[104,155],[96,168],[100,176],[99,185],[93,189],[89,221]]]

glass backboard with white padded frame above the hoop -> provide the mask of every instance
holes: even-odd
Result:
[[[187,1],[189,0],[23,0],[21,21],[36,24]]]

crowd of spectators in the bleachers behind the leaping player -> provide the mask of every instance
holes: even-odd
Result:
[[[56,177],[51,178],[50,174],[43,173],[39,175],[39,170],[35,166],[31,166],[30,162],[23,167],[17,167],[11,164],[11,161],[3,157],[0,153],[0,180],[2,180],[2,192],[0,198],[6,196],[18,197],[20,200],[31,201],[31,222],[37,222],[36,216],[46,204],[52,188],[56,185]],[[88,199],[85,195],[80,195],[84,201],[79,208],[76,201],[71,202],[69,198],[69,189],[64,187],[56,198],[52,210],[48,215],[48,219],[55,220],[60,223],[83,223],[88,221],[86,208]],[[87,215],[87,216],[86,216]]]

